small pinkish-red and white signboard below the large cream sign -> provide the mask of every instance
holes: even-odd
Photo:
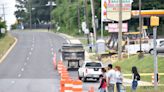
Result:
[[[119,23],[108,23],[108,33],[118,33]],[[128,32],[128,23],[122,23],[122,32]]]

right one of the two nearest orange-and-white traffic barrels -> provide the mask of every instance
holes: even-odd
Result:
[[[73,92],[82,92],[82,81],[76,79],[73,81]]]

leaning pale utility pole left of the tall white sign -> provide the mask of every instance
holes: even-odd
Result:
[[[95,24],[95,8],[94,8],[94,0],[91,0],[91,7],[92,7],[92,24],[93,24],[93,30],[94,30],[94,35],[95,35],[95,42],[98,40],[97,37],[97,28]]]

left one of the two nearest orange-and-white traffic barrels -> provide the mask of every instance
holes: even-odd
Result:
[[[66,79],[64,84],[64,92],[73,92],[73,79]]]

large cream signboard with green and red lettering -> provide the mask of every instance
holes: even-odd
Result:
[[[122,21],[131,18],[133,0],[122,0]],[[119,21],[119,0],[107,0],[107,19]]]

